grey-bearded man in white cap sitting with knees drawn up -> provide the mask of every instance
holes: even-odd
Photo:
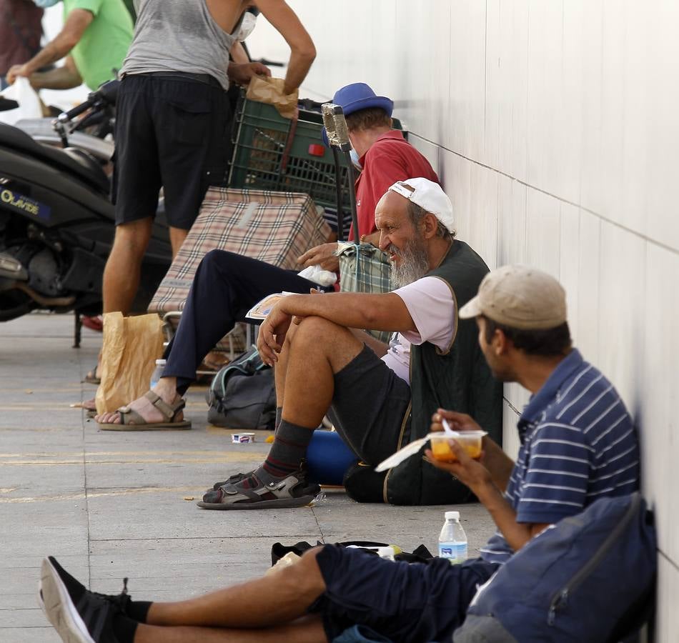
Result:
[[[257,342],[263,361],[276,366],[282,419],[274,443],[261,467],[215,484],[200,507],[307,504],[317,487],[307,484],[302,462],[326,413],[369,465],[346,482],[356,499],[439,504],[469,498],[466,488],[429,465],[425,469],[421,459],[404,463],[388,481],[372,467],[426,434],[432,412],[445,404],[482,417],[500,438],[501,389],[478,348],[475,324],[457,321],[457,306],[476,294],[487,266],[455,239],[450,199],[428,179],[393,184],[377,204],[375,224],[397,288],[295,294],[274,306]],[[395,334],[385,354],[384,344],[352,329]]]

